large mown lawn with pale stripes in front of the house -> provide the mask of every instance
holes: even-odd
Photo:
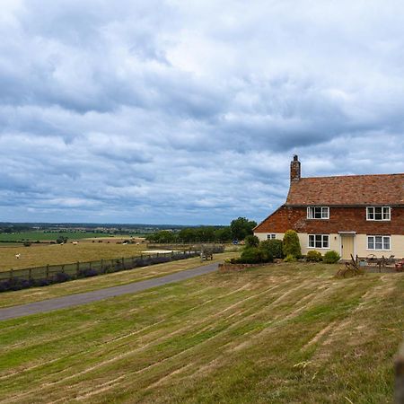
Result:
[[[3,321],[0,400],[391,402],[404,275],[336,271],[215,273]]]

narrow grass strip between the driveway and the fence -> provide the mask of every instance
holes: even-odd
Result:
[[[181,259],[177,261],[156,264],[150,267],[140,267],[119,271],[112,274],[101,275],[99,277],[86,277],[63,284],[49,285],[45,287],[32,287],[15,292],[5,292],[0,294],[0,307],[13,306],[15,302],[19,304],[39,302],[40,300],[51,299],[52,297],[66,296],[66,294],[79,294],[102,289],[109,286],[125,285],[131,282],[143,281],[152,277],[162,277],[174,272],[196,268],[212,262],[223,261],[237,257],[234,252],[224,252],[214,254],[214,259],[201,262],[199,258]]]

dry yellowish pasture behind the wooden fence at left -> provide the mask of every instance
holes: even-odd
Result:
[[[77,261],[133,257],[146,250],[145,244],[117,244],[116,242],[78,242],[74,245],[49,244],[40,247],[3,247],[0,249],[0,271]],[[20,253],[21,258],[15,259]]]

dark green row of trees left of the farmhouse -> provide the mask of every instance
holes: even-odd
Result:
[[[242,241],[252,234],[257,225],[253,220],[245,217],[234,219],[229,226],[199,226],[181,229],[178,232],[161,230],[147,235],[148,242],[174,243],[174,242],[230,242]]]

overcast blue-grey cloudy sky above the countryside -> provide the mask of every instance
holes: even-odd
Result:
[[[228,224],[404,171],[400,0],[2,0],[0,221]]]

